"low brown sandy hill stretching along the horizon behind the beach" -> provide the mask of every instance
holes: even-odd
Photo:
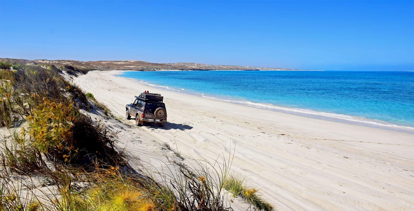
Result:
[[[75,60],[26,60],[26,59],[9,59],[0,58],[1,62],[13,64],[54,64],[55,66],[70,65],[82,69],[97,70],[139,70],[139,71],[155,71],[155,70],[295,70],[286,68],[270,68],[270,67],[254,67],[254,66],[238,66],[238,65],[212,65],[200,63],[151,63],[138,60],[120,60],[120,61],[75,61]]]

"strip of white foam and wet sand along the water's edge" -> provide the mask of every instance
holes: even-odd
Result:
[[[114,70],[114,71],[119,71],[119,70]],[[128,70],[125,70],[125,71],[121,70],[118,73],[114,74],[114,76],[120,77],[120,78],[126,78],[126,79],[129,79],[129,80],[135,81],[137,83],[147,85],[147,86],[152,87],[152,88],[158,88],[158,89],[161,89],[161,90],[172,91],[172,92],[176,92],[176,93],[180,93],[180,94],[184,94],[184,95],[190,95],[190,96],[196,96],[196,97],[205,97],[205,98],[209,98],[209,99],[213,99],[213,100],[230,102],[230,103],[233,103],[233,104],[240,104],[240,105],[244,105],[244,106],[248,106],[248,107],[254,107],[254,108],[258,108],[258,109],[265,109],[265,110],[270,110],[270,111],[282,112],[282,113],[285,113],[285,114],[292,114],[292,115],[296,115],[296,116],[309,117],[309,118],[313,118],[313,119],[322,119],[322,120],[334,121],[334,122],[340,122],[340,123],[347,123],[347,124],[358,125],[358,126],[366,126],[366,127],[370,127],[370,128],[391,130],[391,131],[396,131],[396,132],[401,132],[401,133],[407,133],[407,134],[414,135],[414,127],[397,125],[397,124],[386,122],[386,121],[368,119],[368,118],[359,117],[359,116],[351,116],[351,115],[347,115],[347,114],[335,114],[335,113],[328,113],[328,112],[323,112],[323,111],[314,111],[314,110],[311,110],[311,109],[282,107],[282,106],[278,106],[278,105],[274,105],[274,104],[251,102],[249,100],[221,99],[221,98],[219,98],[217,96],[214,96],[214,95],[205,95],[205,94],[202,94],[202,93],[199,93],[199,92],[193,92],[193,91],[188,91],[188,90],[184,90],[184,89],[170,88],[170,87],[167,87],[167,86],[151,84],[149,82],[139,80],[139,79],[135,79],[135,78],[127,78],[127,77],[119,76],[122,73],[127,72],[127,71]],[[177,70],[177,71],[181,71],[181,70]],[[235,71],[235,70],[227,70],[227,71]]]

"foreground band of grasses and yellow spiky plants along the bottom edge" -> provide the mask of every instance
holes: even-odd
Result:
[[[47,189],[24,176],[2,171],[0,202],[6,210],[16,206],[28,210],[36,205],[48,211],[231,211],[221,194],[229,166],[193,161],[192,166],[171,161],[164,171],[152,171],[161,174],[161,181],[126,176],[119,167],[84,171],[57,164],[54,170],[46,168],[40,174],[51,181]]]

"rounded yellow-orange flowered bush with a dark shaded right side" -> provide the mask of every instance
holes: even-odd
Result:
[[[114,164],[122,156],[114,149],[116,134],[100,121],[94,123],[73,103],[43,98],[28,116],[31,142],[53,159],[71,164],[91,165],[95,161]]]

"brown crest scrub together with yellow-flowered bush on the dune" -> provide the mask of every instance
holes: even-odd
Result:
[[[1,126],[26,119],[29,128],[21,135],[40,152],[71,164],[123,160],[113,148],[116,134],[79,112],[89,108],[86,95],[67,83],[57,69],[24,65],[0,70],[0,79]]]

